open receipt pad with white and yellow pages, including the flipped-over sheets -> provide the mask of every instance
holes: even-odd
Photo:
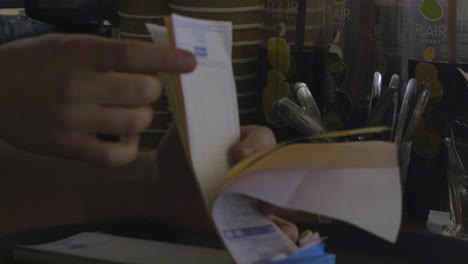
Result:
[[[346,167],[343,168],[333,167],[331,161],[335,154],[347,148],[356,151],[356,146],[335,146],[336,149],[330,152],[330,162],[317,163],[322,167],[309,165],[315,164],[312,160],[289,168],[280,167],[283,164],[281,159],[292,153],[288,151],[307,152],[311,146],[280,148],[276,151],[282,152],[280,156],[270,155],[270,159],[265,161],[264,167],[267,170],[271,167],[270,172],[251,171],[249,175],[229,182],[228,152],[240,138],[231,64],[231,23],[171,15],[166,27],[152,24],[147,24],[147,27],[155,43],[183,48],[197,57],[194,72],[159,76],[206,207],[236,263],[270,263],[300,251],[268,217],[257,210],[257,199],[331,216],[388,241],[396,240],[401,217],[401,193],[396,156],[387,158],[392,157],[393,146],[357,146],[357,150],[369,155],[361,155],[362,159],[354,155],[357,160],[344,164]],[[320,145],[317,148],[317,153],[330,149]],[[362,168],[367,164],[365,158],[379,157],[382,153],[385,154],[384,159],[374,162],[370,168]],[[303,158],[308,156],[311,155],[303,155]],[[321,156],[315,158],[321,159]],[[327,167],[328,164],[333,166]],[[352,184],[349,184],[350,177],[353,177]],[[339,191],[324,190],[323,186],[339,188]],[[365,193],[362,186],[369,187],[375,199],[369,199],[369,193]],[[327,197],[331,194],[333,196]],[[361,210],[353,208],[356,204]]]

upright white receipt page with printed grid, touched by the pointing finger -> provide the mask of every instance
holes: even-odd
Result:
[[[175,16],[177,47],[197,57],[181,75],[188,141],[195,175],[209,209],[229,171],[228,151],[239,140],[237,96],[231,64],[232,26]]]

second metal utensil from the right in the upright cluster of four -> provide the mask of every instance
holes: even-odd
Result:
[[[418,81],[416,79],[411,79],[408,82],[408,85],[405,89],[405,94],[403,101],[401,103],[400,113],[398,114],[398,122],[395,129],[395,140],[394,142],[400,144],[403,140],[406,122],[412,109],[416,103],[416,98],[418,96]]]

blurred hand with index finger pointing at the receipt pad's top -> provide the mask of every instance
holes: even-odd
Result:
[[[5,44],[0,61],[1,140],[108,166],[135,159],[138,134],[161,95],[156,74],[190,72],[196,65],[187,51],[86,35]]]

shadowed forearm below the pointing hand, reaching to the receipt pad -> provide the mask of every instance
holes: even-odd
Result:
[[[0,142],[0,231],[118,218],[151,218],[213,231],[176,129],[155,152],[124,167],[97,168]]]

